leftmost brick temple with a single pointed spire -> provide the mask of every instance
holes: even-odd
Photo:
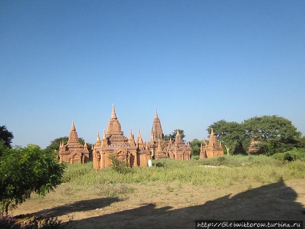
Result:
[[[90,152],[88,150],[87,143],[82,145],[78,141],[78,134],[74,125],[72,123],[68,143],[65,145],[64,141],[61,142],[59,147],[59,161],[61,163],[70,164],[82,164],[90,160]]]

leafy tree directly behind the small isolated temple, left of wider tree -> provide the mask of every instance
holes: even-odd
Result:
[[[217,139],[224,143],[224,151],[227,151],[226,145],[233,154],[245,154],[244,147],[249,145],[250,140],[245,135],[242,124],[238,122],[227,122],[223,119],[214,122],[207,128],[209,134],[211,134],[211,128],[213,128]],[[231,152],[229,153],[231,154]]]

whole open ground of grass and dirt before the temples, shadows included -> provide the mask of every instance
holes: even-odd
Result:
[[[64,184],[33,195],[13,214],[74,215],[76,228],[193,228],[194,220],[303,219],[305,161],[267,156],[222,156],[155,161],[121,174],[92,163],[68,165]],[[283,205],[284,204],[284,205]],[[255,218],[255,216],[259,218]],[[140,216],[140,217],[139,217]],[[254,218],[253,218],[254,217]],[[282,218],[280,218],[282,217]],[[151,224],[147,224],[152,220]],[[182,226],[183,225],[183,226]],[[181,227],[179,227],[181,226]]]

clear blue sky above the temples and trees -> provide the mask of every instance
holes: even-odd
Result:
[[[305,1],[1,1],[0,124],[14,145],[94,143],[112,104],[125,135],[207,136],[220,119],[305,133]]]

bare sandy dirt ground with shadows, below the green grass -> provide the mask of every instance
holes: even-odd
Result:
[[[63,194],[63,184],[44,198],[33,196],[12,214],[58,216],[75,228],[194,228],[195,220],[305,220],[305,179],[235,184],[213,190],[175,183],[130,185],[134,192],[103,197]]]

